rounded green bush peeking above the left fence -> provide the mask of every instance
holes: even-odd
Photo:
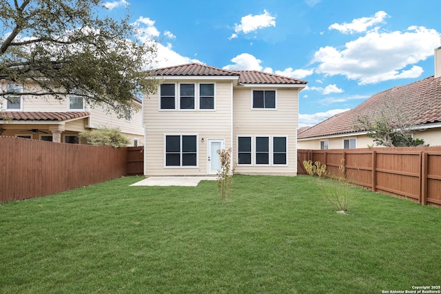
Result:
[[[85,140],[88,145],[98,146],[125,147],[130,143],[130,140],[121,134],[119,129],[111,127],[81,132],[79,138]]]

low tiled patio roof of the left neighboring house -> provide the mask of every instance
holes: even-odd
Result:
[[[63,121],[87,116],[90,112],[1,112],[0,120]]]

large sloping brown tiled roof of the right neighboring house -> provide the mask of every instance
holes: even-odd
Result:
[[[371,96],[367,101],[331,116],[327,120],[298,133],[298,138],[314,138],[355,132],[356,118],[362,115],[375,116],[383,105],[396,105],[413,124],[441,122],[441,77],[424,78],[415,83],[393,87]]]

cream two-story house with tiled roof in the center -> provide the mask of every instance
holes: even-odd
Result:
[[[199,63],[155,70],[143,98],[146,176],[215,175],[219,149],[238,174],[297,174],[298,92],[307,82]]]

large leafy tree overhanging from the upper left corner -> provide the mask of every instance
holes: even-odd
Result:
[[[121,115],[133,109],[136,94],[154,91],[143,69],[156,45],[136,40],[128,14],[112,19],[101,2],[0,0],[0,79],[23,83],[22,96],[80,94]]]

